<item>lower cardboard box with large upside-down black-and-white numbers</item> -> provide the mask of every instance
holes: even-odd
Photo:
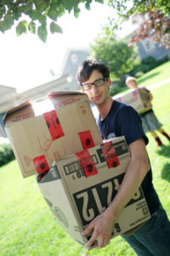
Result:
[[[130,154],[124,137],[55,161],[38,186],[57,223],[78,243],[85,245],[82,230],[105,211],[116,195]],[[150,218],[141,188],[116,219],[112,236],[131,230]]]

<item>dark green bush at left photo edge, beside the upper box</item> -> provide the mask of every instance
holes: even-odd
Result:
[[[7,164],[9,161],[14,160],[14,152],[10,144],[3,143],[0,145],[0,166]]]

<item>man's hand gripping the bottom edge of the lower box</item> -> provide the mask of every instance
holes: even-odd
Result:
[[[109,218],[106,214],[107,210],[96,218],[88,225],[88,227],[82,232],[82,236],[89,236],[86,247],[92,247],[95,241],[97,241],[97,248],[105,247],[111,240],[111,233],[113,230],[113,218]]]

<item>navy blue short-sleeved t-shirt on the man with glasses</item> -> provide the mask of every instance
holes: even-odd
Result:
[[[148,137],[144,134],[139,113],[122,102],[114,101],[111,105],[110,112],[105,119],[101,121],[98,116],[96,121],[100,134],[104,140],[124,136],[126,138],[127,145],[135,142],[141,137],[144,138],[146,145],[149,142]],[[151,169],[144,177],[142,189],[144,191],[144,196],[148,203],[150,213],[156,212],[160,202],[152,184]]]

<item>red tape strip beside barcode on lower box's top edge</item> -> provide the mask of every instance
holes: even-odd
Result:
[[[82,167],[82,171],[85,174],[85,177],[98,174],[96,166],[94,165],[94,161],[88,152],[88,149],[84,149],[76,153],[76,155],[77,160],[79,161],[79,164]]]

